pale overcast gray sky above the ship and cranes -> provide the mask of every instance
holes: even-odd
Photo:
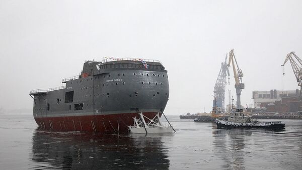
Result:
[[[0,1],[0,106],[31,108],[30,90],[61,86],[85,60],[158,59],[168,70],[166,114],[211,110],[225,53],[235,49],[242,104],[253,90],[297,87],[302,1]],[[234,94],[234,78],[231,73]],[[235,95],[235,94],[234,94]],[[226,92],[228,98],[228,92]],[[228,100],[225,101],[228,103]]]

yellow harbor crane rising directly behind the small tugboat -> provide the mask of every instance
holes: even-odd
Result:
[[[234,61],[235,61],[235,63],[234,63]],[[234,49],[232,49],[230,51],[230,53],[229,53],[229,64],[228,64],[228,67],[230,67],[231,62],[232,62],[232,67],[233,67],[233,72],[234,72],[235,89],[236,89],[236,97],[237,97],[236,111],[242,112],[243,109],[241,108],[240,96],[241,96],[242,89],[244,89],[244,83],[242,83],[243,73],[242,73],[241,69],[239,69],[237,60],[235,58]]]

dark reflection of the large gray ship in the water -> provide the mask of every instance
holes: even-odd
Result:
[[[168,169],[161,136],[35,131],[32,160],[39,169]]]

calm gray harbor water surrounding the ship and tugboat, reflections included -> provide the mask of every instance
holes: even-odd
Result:
[[[301,169],[302,121],[283,131],[218,130],[168,119],[173,135],[43,132],[31,115],[0,118],[0,169]]]

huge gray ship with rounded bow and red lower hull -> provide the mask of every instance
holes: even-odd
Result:
[[[30,92],[41,129],[127,133],[138,112],[161,116],[169,98],[167,70],[157,60],[87,61],[80,75],[62,83]]]

